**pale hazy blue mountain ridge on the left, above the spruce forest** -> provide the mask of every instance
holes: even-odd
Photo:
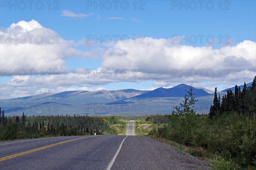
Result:
[[[135,89],[64,91],[57,94],[38,94],[15,99],[2,99],[1,108],[6,114],[75,114],[86,113],[87,106],[96,108],[108,102],[131,98],[149,91]],[[94,110],[93,110],[94,111]],[[91,112],[93,112],[91,111]]]

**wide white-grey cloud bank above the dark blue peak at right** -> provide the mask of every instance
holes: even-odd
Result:
[[[234,46],[174,45],[170,39],[145,37],[144,44],[116,43],[103,54],[103,68],[143,69],[154,85],[171,82],[225,83],[255,74],[256,43],[244,40]],[[119,61],[119,62],[116,62]],[[245,74],[246,73],[246,74]]]

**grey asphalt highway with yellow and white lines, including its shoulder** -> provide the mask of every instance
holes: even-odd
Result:
[[[134,125],[131,122],[131,125]],[[133,131],[129,135],[133,135]],[[1,170],[201,170],[204,162],[145,136],[64,136],[1,142]]]

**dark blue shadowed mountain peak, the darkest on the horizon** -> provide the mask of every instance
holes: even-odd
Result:
[[[193,87],[192,87],[193,88]],[[185,84],[177,85],[173,88],[157,88],[145,94],[134,96],[133,98],[148,98],[148,97],[184,97],[186,91],[189,91],[190,86]],[[195,97],[211,95],[203,89],[193,88]]]

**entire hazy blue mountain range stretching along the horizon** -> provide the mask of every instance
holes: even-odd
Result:
[[[248,83],[247,86],[251,85]],[[242,89],[243,85],[240,85]],[[197,113],[208,113],[214,94],[205,88],[193,88],[198,101]],[[157,88],[153,91],[98,90],[64,91],[57,94],[38,94],[15,99],[2,99],[1,109],[6,115],[121,115],[138,116],[153,113],[172,113],[183,100],[190,86],[180,84],[173,88]],[[229,89],[229,88],[228,88]],[[234,91],[234,87],[230,88]],[[227,89],[218,92],[223,95]]]

